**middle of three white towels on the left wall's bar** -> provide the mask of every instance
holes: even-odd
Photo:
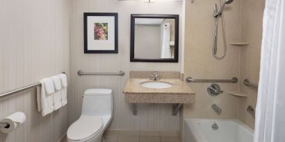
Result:
[[[63,106],[63,104],[61,103],[60,77],[59,76],[52,76],[51,79],[54,82],[54,87],[56,89],[56,91],[54,92],[54,110],[57,110]]]

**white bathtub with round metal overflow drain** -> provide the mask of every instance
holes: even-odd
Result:
[[[252,142],[254,131],[236,119],[186,119],[184,142]]]

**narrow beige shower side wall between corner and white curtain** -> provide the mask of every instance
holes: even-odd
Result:
[[[254,118],[246,111],[248,105],[257,105],[257,89],[243,85],[245,78],[258,84],[262,39],[262,20],[265,1],[242,1],[241,5],[241,40],[249,43],[241,47],[241,82],[240,90],[247,94],[239,103],[238,118],[243,123],[254,127]]]

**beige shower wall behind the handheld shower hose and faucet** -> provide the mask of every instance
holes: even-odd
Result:
[[[184,78],[239,78],[239,48],[229,46],[223,60],[215,60],[212,55],[213,44],[213,4],[219,1],[186,1],[185,64]],[[241,1],[234,1],[225,9],[225,30],[227,42],[240,41]],[[221,29],[221,27],[219,27]],[[222,35],[219,33],[218,51],[222,53]],[[238,84],[218,83],[225,93],[209,96],[206,89],[211,83],[189,83],[196,91],[194,105],[184,106],[184,118],[237,118],[238,98],[227,91],[238,90]],[[222,108],[222,114],[215,114],[211,105]]]

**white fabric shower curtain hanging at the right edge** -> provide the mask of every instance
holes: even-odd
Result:
[[[285,1],[266,0],[254,142],[285,141]]]

